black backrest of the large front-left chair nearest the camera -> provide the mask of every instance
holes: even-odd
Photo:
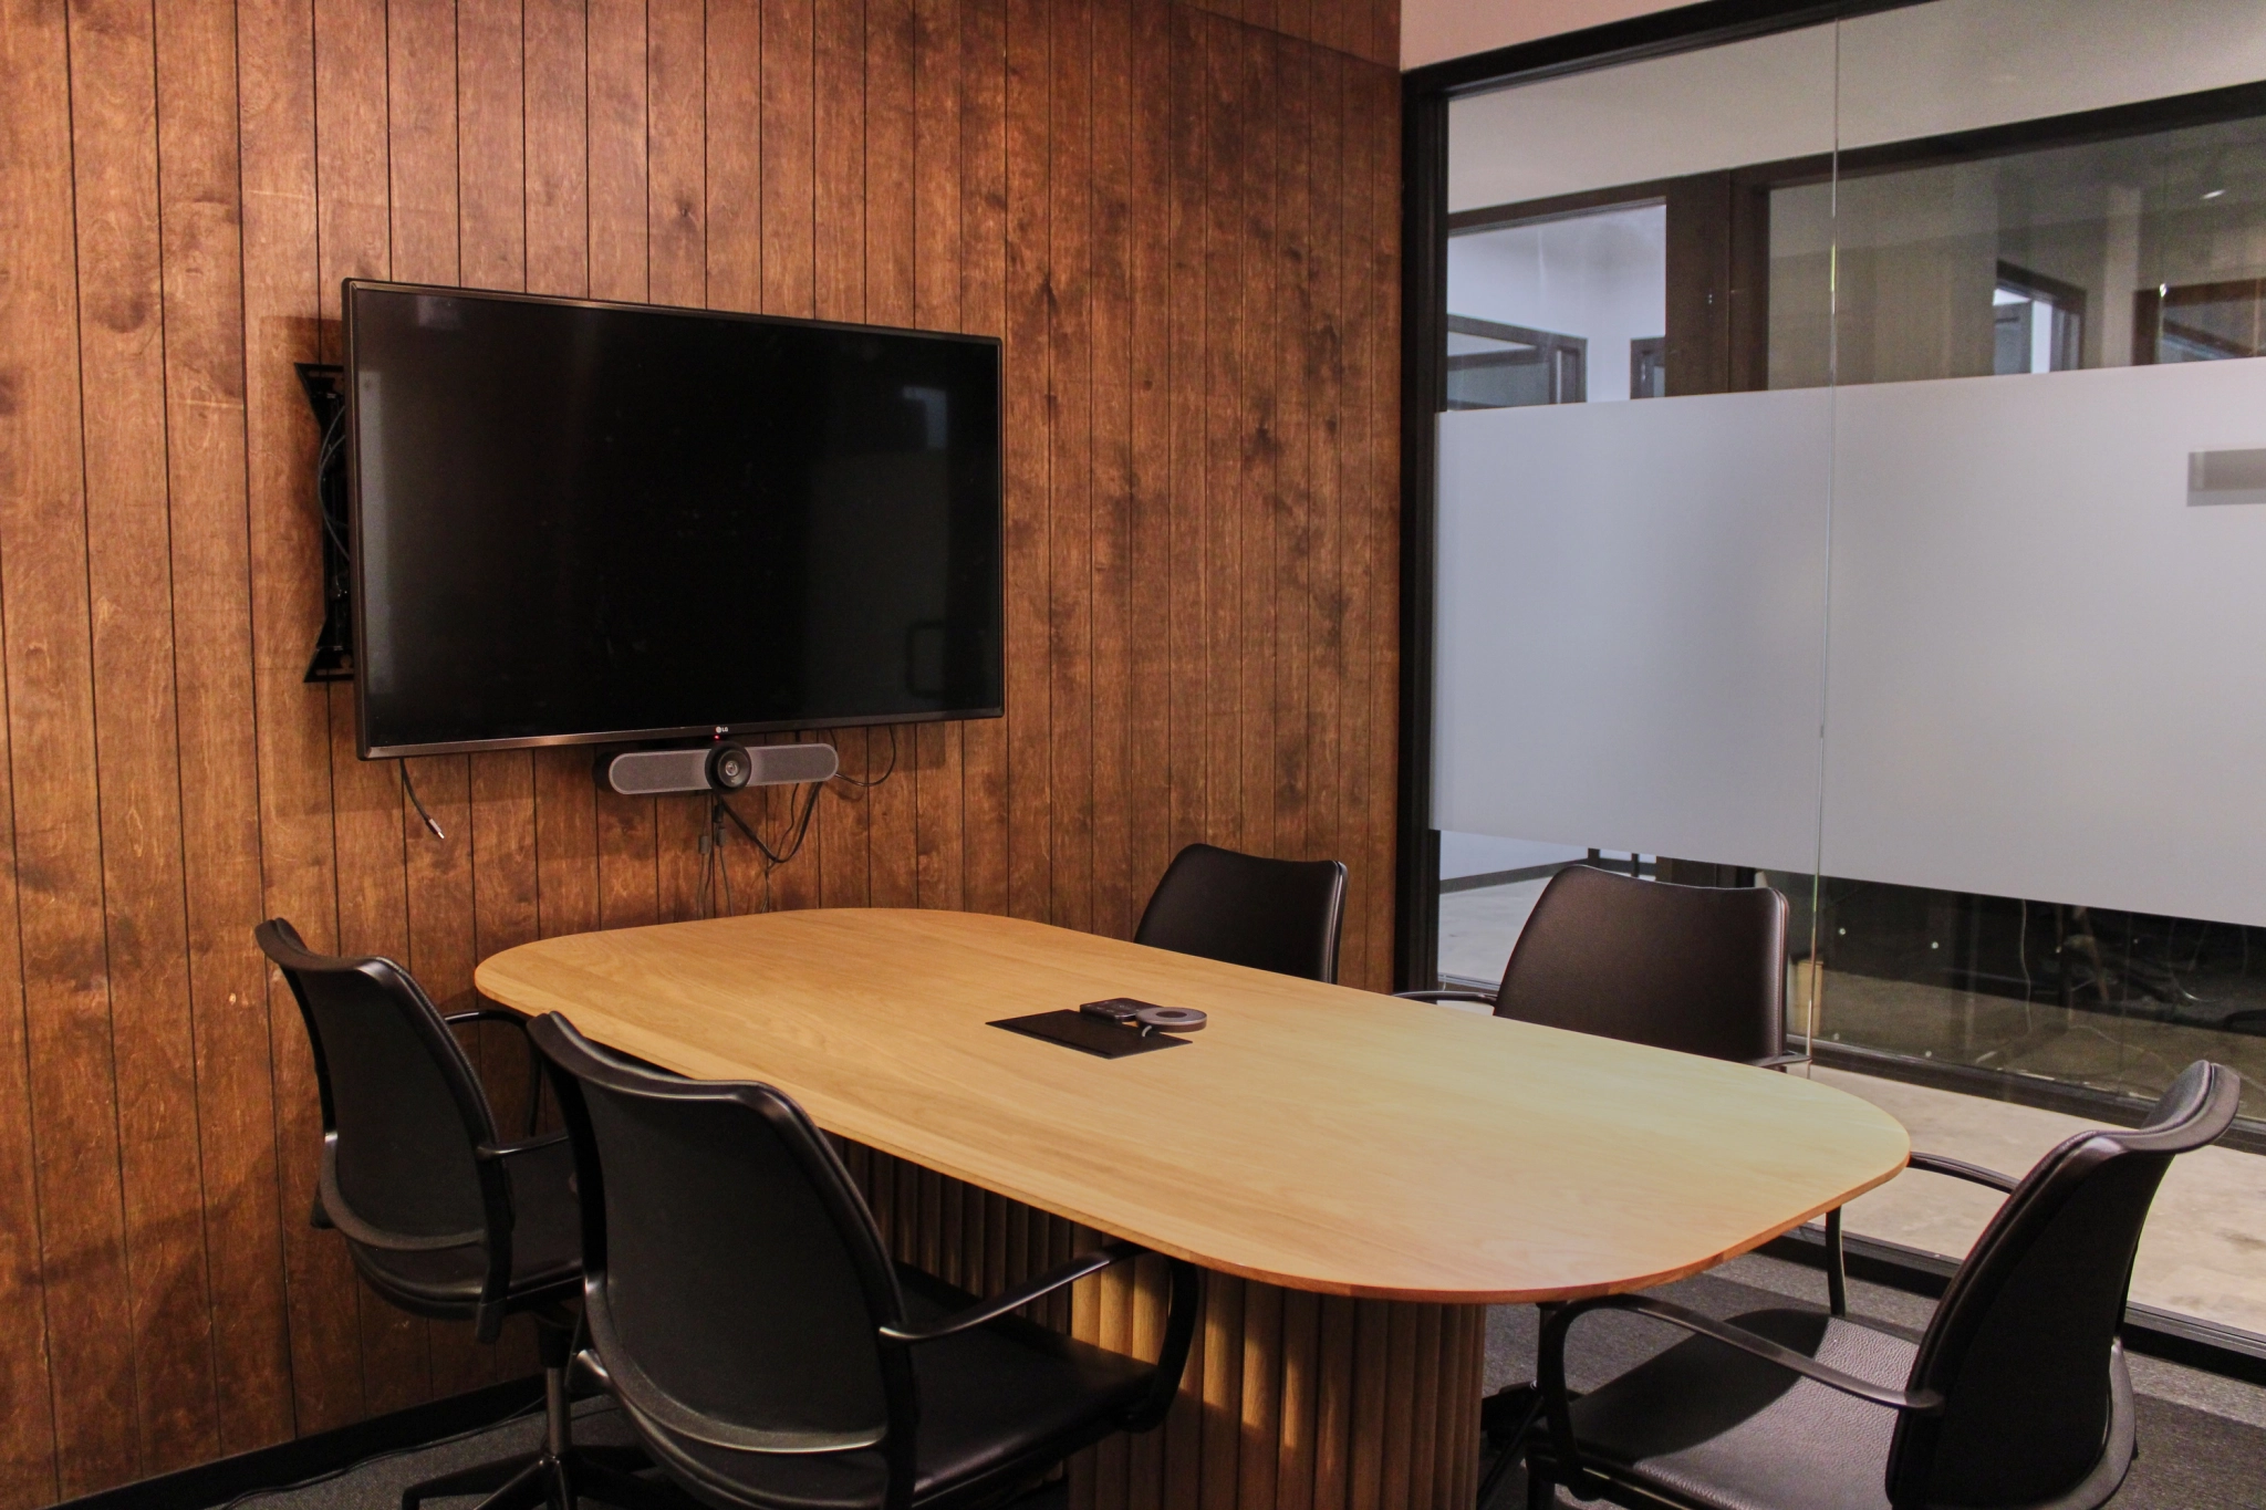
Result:
[[[582,1313],[612,1388],[664,1429],[743,1451],[904,1438],[897,1275],[834,1146],[768,1084],[682,1080],[551,1014],[582,1195]]]

